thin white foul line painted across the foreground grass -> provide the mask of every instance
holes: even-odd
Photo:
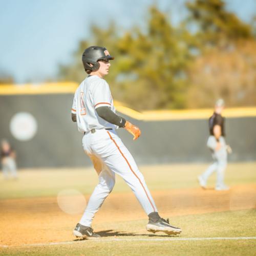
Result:
[[[126,238],[110,238],[110,239],[86,239],[78,241],[66,241],[66,242],[53,242],[53,243],[41,243],[41,244],[23,244],[19,246],[13,245],[0,245],[0,247],[20,247],[20,246],[47,246],[47,245],[65,245],[65,244],[77,244],[85,243],[86,241],[93,242],[113,242],[113,241],[203,241],[203,240],[252,240],[256,237],[237,237],[237,238],[136,238],[136,239],[126,239]]]

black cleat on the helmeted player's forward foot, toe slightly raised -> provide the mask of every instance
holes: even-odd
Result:
[[[146,225],[146,230],[153,233],[162,231],[166,234],[179,234],[182,231],[180,228],[170,225],[169,219],[165,220],[163,218],[160,218],[157,221],[152,221],[150,219]]]

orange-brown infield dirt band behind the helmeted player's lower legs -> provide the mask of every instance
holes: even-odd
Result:
[[[256,208],[255,184],[233,186],[229,191],[191,188],[154,191],[152,194],[165,218]],[[1,200],[0,216],[0,244],[15,246],[72,241],[72,229],[81,214],[66,214],[59,208],[57,198],[44,197]],[[146,216],[134,195],[114,193],[106,199],[94,223],[105,223],[112,228],[113,222],[139,219],[145,219],[146,223]],[[97,225],[94,227],[96,232],[103,232],[97,230]]]

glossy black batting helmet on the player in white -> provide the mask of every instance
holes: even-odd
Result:
[[[114,59],[110,55],[109,51],[105,47],[101,46],[90,46],[84,50],[82,54],[82,63],[84,70],[95,71],[99,68],[99,63],[97,62],[100,59]],[[90,63],[93,65],[91,66]]]

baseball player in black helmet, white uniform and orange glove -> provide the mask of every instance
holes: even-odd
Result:
[[[109,73],[110,60],[114,59],[104,47],[91,46],[84,50],[82,62],[89,76],[77,88],[72,105],[72,120],[83,134],[84,152],[91,158],[99,183],[88,205],[73,230],[76,237],[99,238],[92,227],[93,218],[115,185],[115,174],[120,175],[148,215],[146,229],[178,234],[181,229],[162,219],[131,153],[122,143],[116,129],[123,127],[136,140],[141,132],[138,127],[115,114],[109,84],[103,79]]]

